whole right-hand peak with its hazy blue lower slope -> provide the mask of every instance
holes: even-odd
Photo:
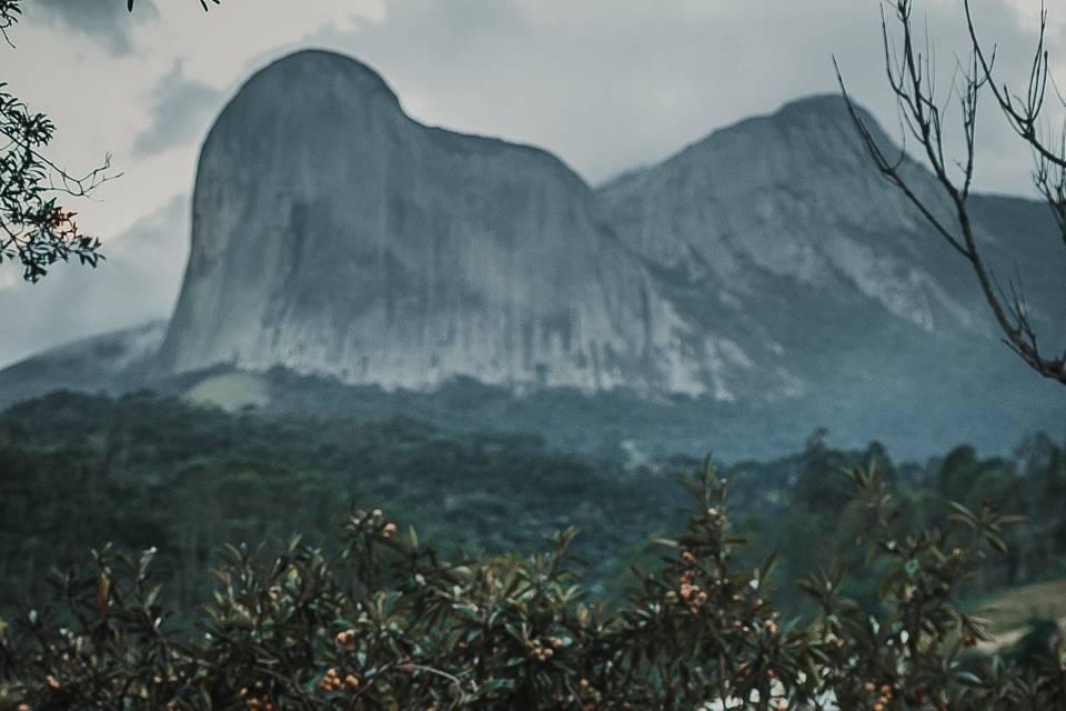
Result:
[[[864,116],[875,140],[895,150]],[[909,160],[905,171],[949,223],[934,178]],[[678,313],[698,322],[712,297],[742,303],[813,385],[800,395],[824,421],[837,419],[826,412],[834,407],[874,408],[885,425],[871,418],[871,432],[907,420],[943,429],[959,412],[989,408],[1029,409],[1020,418],[1033,423],[1066,413],[1060,388],[999,342],[968,264],[872,168],[841,97],[715,131],[597,192],[615,233],[662,276]],[[1035,313],[1054,334],[1049,324],[1066,323],[1066,280],[1057,278],[1066,251],[1046,207],[978,196],[972,208],[1003,283],[1017,269],[1035,286]]]

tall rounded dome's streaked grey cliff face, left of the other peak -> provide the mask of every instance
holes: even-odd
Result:
[[[751,384],[750,357],[694,332],[597,211],[553,156],[421,126],[366,67],[300,52],[254,76],[203,147],[162,363],[413,388]]]

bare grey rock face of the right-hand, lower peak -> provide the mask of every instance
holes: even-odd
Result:
[[[937,204],[932,177],[909,173]],[[975,326],[964,266],[873,169],[839,97],[717,131],[600,197],[634,250],[737,299],[777,284],[801,300],[869,300],[928,332]]]

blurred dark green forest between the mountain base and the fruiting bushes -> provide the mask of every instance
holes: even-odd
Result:
[[[1066,455],[1045,435],[1008,458],[962,445],[924,463],[894,462],[877,444],[831,447],[814,432],[794,455],[721,464],[734,524],[751,564],[778,555],[780,604],[805,610],[792,581],[838,561],[859,571],[855,547],[868,511],[842,474],[874,467],[917,530],[949,501],[996,502],[1027,518],[1004,557],[980,563],[973,594],[1066,574]],[[281,544],[299,532],[326,550],[353,504],[418,528],[449,555],[527,554],[555,531],[580,531],[574,552],[593,592],[617,598],[630,567],[654,567],[647,542],[681,525],[687,457],[631,460],[570,454],[540,438],[455,432],[422,421],[306,419],[215,408],[140,392],[57,392],[0,415],[0,604],[38,599],[51,569],[111,543],[159,550],[171,603],[189,611],[211,584],[223,543]],[[844,589],[871,609],[876,571]]]

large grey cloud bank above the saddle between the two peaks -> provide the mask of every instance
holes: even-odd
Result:
[[[542,146],[600,182],[662,160],[716,127],[837,91],[833,54],[858,100],[892,132],[897,121],[883,73],[881,6],[395,0],[379,20],[345,30],[328,22],[291,48],[353,54],[381,71],[414,118]],[[946,0],[921,10],[945,64],[965,49],[959,10]],[[1005,53],[1027,59],[1034,28],[1015,8],[989,1],[978,14]],[[983,126],[980,184],[1024,190],[1029,156],[1007,144],[1009,131],[997,118]]]

